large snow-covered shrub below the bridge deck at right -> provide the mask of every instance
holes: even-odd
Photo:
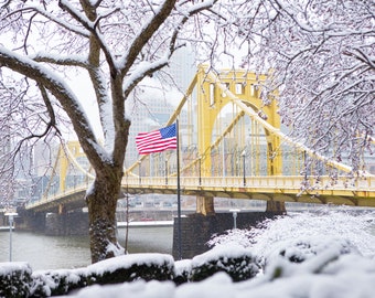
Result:
[[[266,220],[250,230],[215,236],[211,246],[238,244],[261,256],[268,278],[320,270],[346,254],[374,257],[374,212],[324,206]],[[265,268],[266,267],[266,268]]]

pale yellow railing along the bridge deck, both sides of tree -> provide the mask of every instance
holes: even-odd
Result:
[[[176,189],[176,177],[125,177],[122,188],[126,189]],[[302,177],[302,175],[265,175],[265,177],[181,177],[181,189],[190,190],[227,190],[244,189],[247,192],[265,191],[279,193],[299,193],[308,191],[325,191],[329,195],[347,195],[347,192],[356,193],[358,196],[374,196],[375,177],[365,177],[360,179],[350,179],[347,177]],[[84,192],[89,187],[89,182],[74,185],[64,192],[56,193],[52,196],[43,196],[39,201],[29,202],[28,209],[32,209],[54,200],[73,195],[77,192]],[[344,194],[346,192],[346,194]]]

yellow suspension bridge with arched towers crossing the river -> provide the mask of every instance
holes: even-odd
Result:
[[[244,70],[199,68],[165,124],[180,119],[181,194],[195,195],[196,211],[203,214],[213,212],[214,198],[375,206],[373,173],[352,175],[349,166],[282,131],[278,95],[261,98],[266,78]],[[84,206],[84,193],[94,179],[84,159],[78,142],[61,146],[43,196],[26,209]],[[176,185],[175,150],[141,156],[125,169],[125,193],[173,194]]]

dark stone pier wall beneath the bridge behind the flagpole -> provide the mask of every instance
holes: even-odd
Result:
[[[237,213],[237,228],[249,228],[265,219],[278,215],[272,212],[239,212]],[[207,252],[210,247],[206,243],[214,234],[222,234],[234,227],[233,213],[216,213],[204,216],[191,214],[181,217],[181,251],[182,258],[193,258],[194,256]],[[179,259],[178,245],[178,219],[174,219],[173,227],[173,249],[174,259]]]

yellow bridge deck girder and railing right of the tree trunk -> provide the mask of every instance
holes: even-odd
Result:
[[[182,193],[185,195],[199,195],[201,198],[215,195],[221,198],[234,198],[246,200],[266,200],[280,202],[301,202],[317,204],[338,204],[355,206],[375,206],[375,177],[357,181],[353,185],[347,185],[347,177],[339,177],[336,184],[326,188],[331,183],[331,178],[321,177],[319,184],[311,190],[301,190],[303,177],[301,175],[264,175],[249,177],[246,187],[243,185],[240,177],[207,177],[202,178],[202,184],[197,187],[196,177],[182,177],[181,184],[184,185]],[[144,180],[144,181],[143,181]],[[314,178],[309,178],[314,184]],[[175,193],[176,179],[170,179],[168,184],[163,183],[163,178],[142,178],[142,184],[137,178],[128,178],[124,185],[130,193]]]

